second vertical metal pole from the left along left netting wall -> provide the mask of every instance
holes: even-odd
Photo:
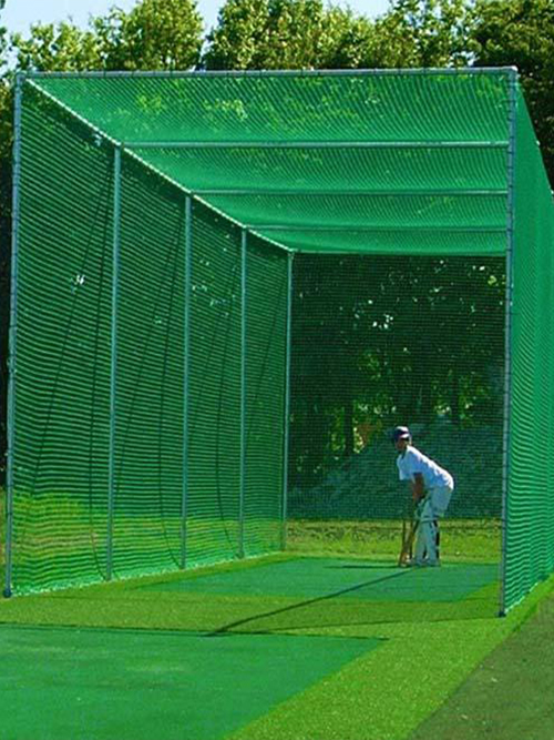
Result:
[[[121,148],[114,150],[113,174],[113,252],[112,252],[112,346],[110,369],[110,453],[107,477],[106,580],[113,576],[113,519],[115,503],[115,439],[117,423],[117,308],[120,290],[121,236]]]

